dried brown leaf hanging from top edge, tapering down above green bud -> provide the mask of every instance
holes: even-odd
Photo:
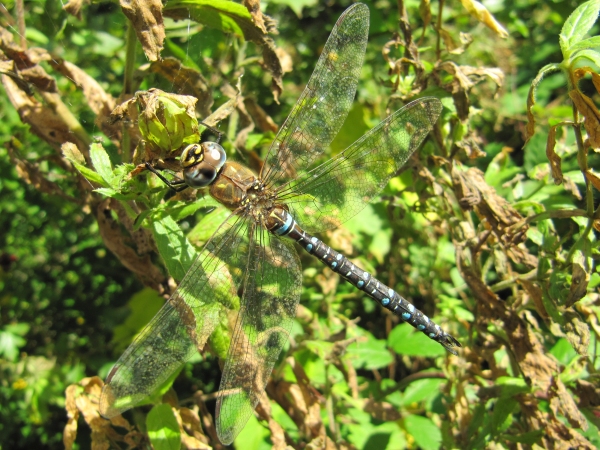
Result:
[[[150,61],[158,61],[165,40],[160,0],[121,0],[123,14],[131,21],[144,53]]]

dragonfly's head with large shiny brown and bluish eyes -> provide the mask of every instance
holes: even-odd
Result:
[[[225,150],[215,142],[188,145],[181,153],[183,179],[191,188],[206,187],[215,181],[226,161]]]

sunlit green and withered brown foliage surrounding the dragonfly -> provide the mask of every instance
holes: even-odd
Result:
[[[90,378],[105,378],[173,289],[151,224],[177,220],[173,233],[201,244],[218,210],[162,202],[160,184],[139,177],[126,193],[153,208],[136,220],[121,185],[107,199],[69,162],[81,155],[124,179],[137,127],[108,115],[151,87],[196,96],[201,117],[226,105],[229,155],[260,160],[350,2],[268,2],[277,25],[265,19],[264,30],[241,5],[211,4],[168,3],[162,51],[154,16],[116,3],[3,4],[2,448],[220,445],[209,352],[166,394],[174,409],[144,406],[112,424],[97,415],[101,381]],[[464,348],[447,355],[302,255],[290,348],[238,447],[597,448],[598,2],[575,13],[574,1],[406,2],[407,22],[403,2],[367,4],[366,62],[332,152],[416,96],[445,109],[381,202],[323,238]],[[143,24],[153,33],[136,47]],[[172,59],[148,64],[159,54]]]

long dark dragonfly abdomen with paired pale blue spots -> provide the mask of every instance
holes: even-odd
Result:
[[[342,253],[336,252],[323,241],[308,234],[283,208],[272,210],[270,218],[271,222],[267,227],[273,234],[295,240],[304,250],[319,258],[331,270],[340,274],[342,278],[365,292],[381,306],[400,316],[405,322],[456,355],[454,347],[461,347],[460,343],[392,288],[362,270]]]

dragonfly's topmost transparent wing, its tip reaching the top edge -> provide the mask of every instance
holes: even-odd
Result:
[[[352,106],[369,34],[369,8],[357,3],[338,19],[315,70],[271,144],[261,179],[295,179],[327,149]]]

